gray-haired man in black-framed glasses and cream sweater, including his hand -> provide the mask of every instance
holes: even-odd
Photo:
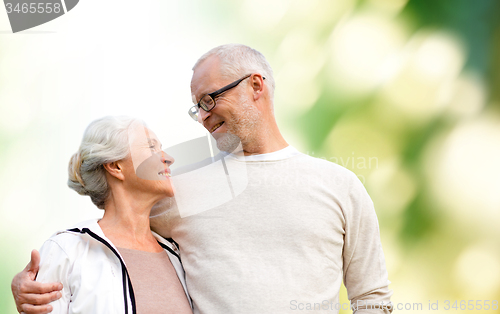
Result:
[[[152,222],[179,244],[194,312],[338,312],[346,308],[338,304],[342,280],[354,311],[390,312],[370,197],[352,172],[287,144],[274,117],[275,84],[264,56],[223,45],[193,70],[190,115],[219,149],[241,141],[244,156],[232,162],[244,163],[248,178],[244,191],[222,205],[188,217],[170,211]],[[57,298],[59,287],[31,282],[36,265],[28,268],[13,281],[18,308]],[[46,312],[23,306],[26,313]]]

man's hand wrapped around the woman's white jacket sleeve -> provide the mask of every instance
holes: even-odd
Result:
[[[17,311],[26,314],[45,314],[52,311],[50,302],[61,298],[61,283],[36,282],[40,266],[40,253],[31,251],[31,261],[12,280],[11,289]]]

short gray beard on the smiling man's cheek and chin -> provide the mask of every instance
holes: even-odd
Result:
[[[254,137],[256,129],[261,124],[260,111],[246,100],[243,100],[239,105],[240,110],[226,120],[227,133],[220,135],[217,138],[217,148],[221,151],[233,153],[240,145],[248,147],[255,145]]]

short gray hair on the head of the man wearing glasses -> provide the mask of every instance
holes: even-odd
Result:
[[[193,71],[211,56],[219,57],[221,72],[225,78],[237,80],[246,74],[259,73],[266,79],[264,84],[269,89],[269,96],[274,96],[273,69],[264,55],[257,50],[241,44],[227,44],[215,47],[196,61]]]

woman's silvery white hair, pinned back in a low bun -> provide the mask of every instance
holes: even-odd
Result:
[[[89,195],[100,209],[104,209],[109,195],[104,164],[129,156],[128,130],[134,122],[143,123],[124,116],[107,116],[93,121],[83,134],[80,148],[69,161],[68,186],[80,195]]]

